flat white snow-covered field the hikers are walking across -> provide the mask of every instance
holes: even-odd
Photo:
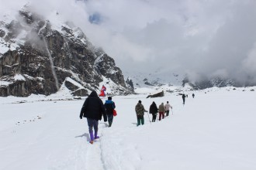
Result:
[[[118,115],[111,128],[99,122],[93,145],[86,119],[79,118],[85,97],[0,97],[0,169],[254,170],[255,90],[212,88],[193,92],[194,99],[189,92],[184,106],[176,93],[112,97]],[[137,127],[138,100],[146,110],[168,100],[173,115],[150,123],[145,113]]]

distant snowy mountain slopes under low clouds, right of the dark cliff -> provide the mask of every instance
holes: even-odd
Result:
[[[221,77],[202,78],[190,80],[187,75],[178,73],[125,73],[128,80],[133,82],[135,89],[151,88],[152,90],[180,91],[203,90],[210,87],[241,87],[234,80]]]

